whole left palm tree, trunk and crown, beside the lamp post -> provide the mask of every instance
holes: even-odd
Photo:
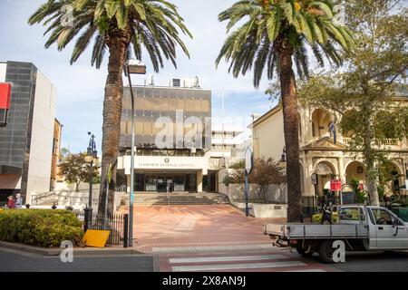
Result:
[[[73,21],[69,17],[72,7]],[[118,158],[121,99],[123,94],[122,71],[131,54],[141,60],[142,47],[149,53],[154,71],[159,72],[166,58],[176,67],[176,47],[180,45],[189,56],[180,39],[180,31],[191,37],[177,11],[165,0],[49,0],[30,17],[29,24],[43,23],[50,34],[45,48],[54,43],[62,51],[75,36],[71,64],[75,63],[90,43],[92,65],[100,68],[103,56],[109,52],[108,77],[103,102],[102,184],[107,169],[112,165],[112,182],[108,209],[113,210]],[[44,35],[45,35],[44,34]],[[132,53],[131,53],[132,52]],[[99,211],[104,211],[105,193],[101,187]]]

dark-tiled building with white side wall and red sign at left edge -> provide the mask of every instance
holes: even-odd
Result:
[[[0,125],[0,200],[50,189],[56,90],[33,63],[0,63],[0,99],[9,99]]]

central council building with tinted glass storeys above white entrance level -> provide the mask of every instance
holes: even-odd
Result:
[[[135,190],[216,191],[211,148],[211,92],[196,82],[135,86]],[[131,91],[124,89],[118,185],[131,181]]]

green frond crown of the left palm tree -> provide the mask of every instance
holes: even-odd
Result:
[[[73,25],[67,23],[67,5],[73,7]],[[141,60],[142,47],[149,54],[154,71],[168,59],[176,67],[176,45],[189,55],[179,30],[191,36],[177,12],[177,6],[164,0],[48,0],[31,15],[29,24],[44,23],[49,34],[45,48],[57,45],[59,51],[73,42],[71,64],[92,44],[92,65],[100,68],[113,34],[125,32],[129,39],[129,59],[134,53]],[[77,37],[78,36],[78,37]],[[132,53],[131,53],[132,52]]]

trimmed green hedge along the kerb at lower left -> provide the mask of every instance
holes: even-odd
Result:
[[[65,240],[79,245],[81,222],[72,211],[12,209],[0,211],[0,240],[38,247],[60,247]]]

